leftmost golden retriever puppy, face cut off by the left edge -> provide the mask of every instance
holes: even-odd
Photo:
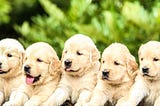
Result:
[[[15,39],[0,41],[0,105],[22,82],[24,48]]]

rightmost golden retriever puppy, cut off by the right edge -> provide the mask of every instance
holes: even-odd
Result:
[[[149,41],[138,51],[139,73],[129,93],[117,106],[160,106],[160,42]]]

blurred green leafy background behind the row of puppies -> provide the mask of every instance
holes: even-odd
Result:
[[[137,58],[141,44],[160,40],[160,0],[0,0],[0,39],[24,47],[48,42],[60,57],[76,33],[90,36],[101,52],[123,43]]]

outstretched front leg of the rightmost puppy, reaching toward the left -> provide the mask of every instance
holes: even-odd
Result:
[[[149,95],[147,86],[143,79],[138,77],[134,85],[131,87],[129,95],[118,100],[116,106],[137,106],[147,95]]]

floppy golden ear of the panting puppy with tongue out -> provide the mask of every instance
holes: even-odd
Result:
[[[53,58],[49,64],[49,73],[56,76],[61,73],[61,62],[58,58]]]

